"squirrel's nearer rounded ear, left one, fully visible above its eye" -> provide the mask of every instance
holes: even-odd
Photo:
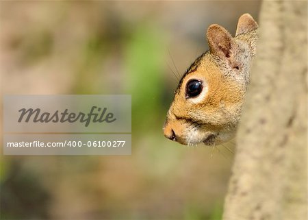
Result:
[[[210,25],[207,29],[209,51],[220,58],[229,58],[232,36],[220,25]]]

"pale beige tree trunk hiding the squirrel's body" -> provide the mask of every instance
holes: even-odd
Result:
[[[307,2],[264,1],[224,220],[307,218]]]

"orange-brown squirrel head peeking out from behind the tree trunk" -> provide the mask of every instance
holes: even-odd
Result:
[[[209,51],[196,58],[175,90],[164,136],[183,145],[219,145],[236,133],[256,53],[258,25],[242,14],[233,38],[224,27],[207,29]]]

